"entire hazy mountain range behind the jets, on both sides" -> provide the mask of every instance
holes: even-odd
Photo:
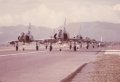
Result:
[[[56,28],[56,32],[57,32]],[[107,22],[81,22],[70,23],[66,25],[66,30],[71,37],[81,34],[83,37],[91,37],[100,40],[103,37],[104,41],[120,41],[120,24]],[[28,26],[3,26],[0,27],[0,43],[17,40],[21,32],[27,32]],[[53,29],[47,27],[32,26],[32,34],[35,39],[45,39],[53,35]]]

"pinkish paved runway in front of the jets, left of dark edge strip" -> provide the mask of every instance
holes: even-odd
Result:
[[[94,52],[73,50],[0,49],[1,82],[60,82],[84,63],[96,61],[100,55]]]

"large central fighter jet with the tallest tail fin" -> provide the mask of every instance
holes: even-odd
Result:
[[[73,47],[74,51],[76,51],[77,50],[76,44],[81,42],[85,42],[82,36],[73,38],[69,37],[69,34],[66,31],[66,18],[63,27],[58,30],[58,33],[55,33],[53,37],[51,37],[50,39],[45,39],[45,43],[50,44],[49,46],[50,51],[52,51],[53,49],[52,44],[55,43],[58,43],[60,46],[62,46],[63,44],[69,45],[69,49],[72,49]],[[59,50],[61,51],[62,48],[60,47]]]

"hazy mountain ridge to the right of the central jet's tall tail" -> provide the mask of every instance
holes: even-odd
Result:
[[[104,41],[120,41],[120,24],[107,22],[81,22],[67,25],[67,31],[71,35],[81,34],[84,37],[91,37]]]

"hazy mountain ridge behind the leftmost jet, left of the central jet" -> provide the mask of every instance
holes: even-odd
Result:
[[[28,32],[28,26],[17,25],[17,26],[7,26],[0,27],[0,43],[6,43],[9,41],[17,40],[18,36],[22,33]],[[49,38],[52,35],[52,29],[47,27],[31,27],[31,33],[34,36],[34,39],[44,39]]]

